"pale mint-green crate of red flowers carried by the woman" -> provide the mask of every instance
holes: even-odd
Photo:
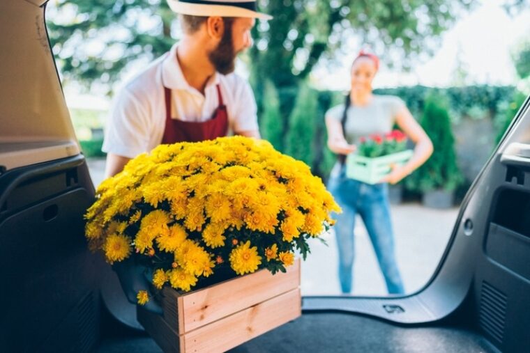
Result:
[[[404,150],[375,158],[351,154],[346,159],[346,176],[367,184],[377,184],[390,173],[392,165],[407,163],[413,154],[413,150]]]

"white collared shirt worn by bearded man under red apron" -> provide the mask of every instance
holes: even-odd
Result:
[[[219,84],[227,106],[229,134],[258,130],[256,101],[248,82],[234,73],[216,72],[202,95],[185,80],[176,47],[153,61],[116,95],[105,129],[104,152],[134,158],[161,143],[166,120],[164,86],[172,90],[173,118],[209,120],[219,106],[215,88]]]

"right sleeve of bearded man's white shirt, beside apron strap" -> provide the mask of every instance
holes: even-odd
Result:
[[[237,108],[234,109],[234,132],[259,130],[256,99],[248,82],[242,80],[236,100]]]

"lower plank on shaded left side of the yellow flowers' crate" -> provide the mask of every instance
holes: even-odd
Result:
[[[184,338],[164,321],[161,315],[136,307],[137,320],[165,353],[185,352]]]

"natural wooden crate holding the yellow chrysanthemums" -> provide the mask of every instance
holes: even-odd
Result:
[[[184,295],[163,290],[163,315],[138,321],[169,352],[223,352],[301,315],[300,260],[287,273],[262,269]]]

